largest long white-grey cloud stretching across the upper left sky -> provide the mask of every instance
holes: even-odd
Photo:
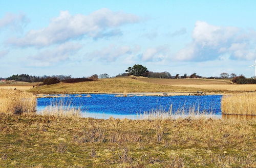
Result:
[[[71,15],[69,11],[61,11],[47,27],[31,30],[22,38],[10,38],[7,43],[17,46],[47,46],[84,36],[99,38],[120,35],[118,30],[115,32],[112,29],[139,20],[136,15],[109,9],[100,9],[89,15]]]

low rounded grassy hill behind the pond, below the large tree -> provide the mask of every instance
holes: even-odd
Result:
[[[33,93],[142,93],[142,92],[195,92],[195,88],[158,85],[131,78],[108,78],[78,83],[57,83],[30,89]]]

